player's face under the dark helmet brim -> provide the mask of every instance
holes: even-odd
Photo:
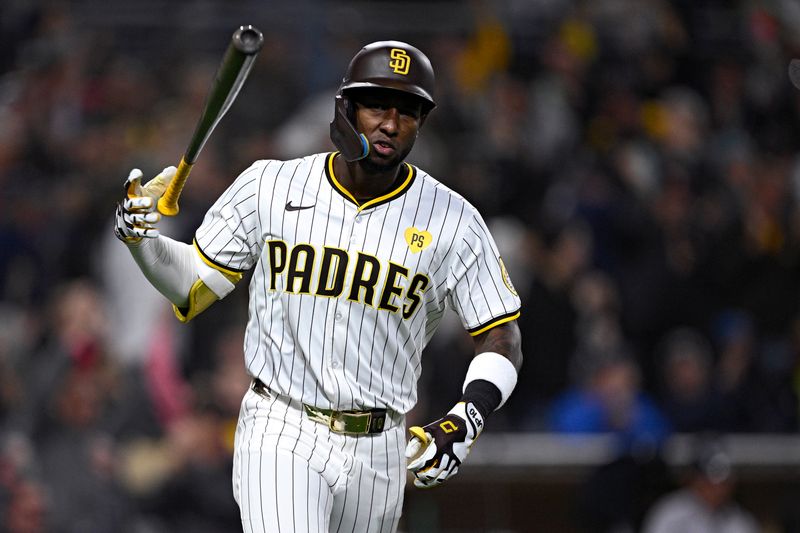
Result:
[[[377,89],[360,91],[355,100],[356,129],[370,144],[367,161],[379,169],[397,167],[411,152],[422,124],[419,98]]]

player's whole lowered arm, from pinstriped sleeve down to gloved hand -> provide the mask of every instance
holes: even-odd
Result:
[[[521,301],[486,223],[477,211],[461,226],[448,254],[448,304],[475,342],[461,399],[444,417],[409,428],[406,447],[414,485],[433,487],[458,472],[487,417],[517,384],[522,366]]]

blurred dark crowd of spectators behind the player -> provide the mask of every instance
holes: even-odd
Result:
[[[523,300],[525,363],[492,428],[624,450],[796,432],[796,2],[431,4],[460,22],[298,43],[254,11],[264,49],[163,232],[189,241],[256,159],[331,150],[347,60],[404,39],[437,74],[411,161],[483,213]],[[95,8],[0,4],[0,531],[231,531],[247,291],[180,325],[111,231],[128,171],[178,161],[229,30],[193,55],[196,24],[86,27]],[[445,320],[413,420],[449,409],[470,349]]]

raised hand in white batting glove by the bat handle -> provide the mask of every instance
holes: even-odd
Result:
[[[117,204],[114,234],[125,244],[138,244],[142,239],[158,237],[156,224],[161,214],[156,211],[158,199],[167,190],[177,169],[167,167],[142,186],[142,171],[131,170],[125,180],[125,199]]]

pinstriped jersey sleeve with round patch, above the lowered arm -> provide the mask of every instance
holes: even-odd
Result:
[[[449,258],[449,304],[470,335],[516,319],[521,302],[486,223],[473,216]]]

